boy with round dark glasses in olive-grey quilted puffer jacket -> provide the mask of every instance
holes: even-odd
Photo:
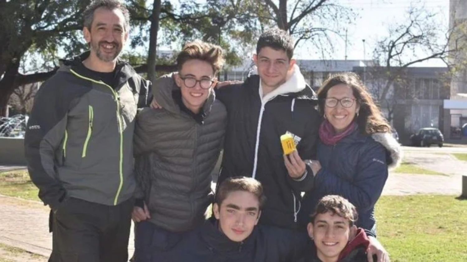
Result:
[[[226,108],[212,91],[223,62],[219,46],[186,44],[177,56],[178,73],[154,83],[163,109],[138,114],[136,262],[160,261],[164,250],[204,222],[212,202],[211,172],[226,130]]]

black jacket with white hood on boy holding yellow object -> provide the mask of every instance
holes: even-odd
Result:
[[[320,117],[317,98],[297,65],[293,75],[276,90],[262,96],[260,77],[216,90],[228,112],[224,156],[219,181],[251,176],[261,181],[266,205],[260,223],[298,228],[300,192],[313,186],[311,169],[300,181],[290,178],[284,165],[280,137],[294,135],[302,159],[316,159]]]

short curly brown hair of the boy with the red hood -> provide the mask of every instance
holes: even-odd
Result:
[[[321,198],[318,205],[316,205],[315,212],[311,215],[311,223],[315,223],[315,218],[318,214],[325,214],[327,212],[347,219],[350,226],[353,226],[358,220],[357,209],[352,203],[338,195],[327,195]]]

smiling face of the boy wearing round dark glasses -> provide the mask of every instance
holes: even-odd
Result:
[[[180,91],[182,92],[184,105],[197,114],[211,93],[212,86],[209,89],[203,89],[201,88],[201,83],[198,81],[194,87],[189,88],[185,85],[183,78],[187,78],[186,83],[190,82],[188,78],[212,80],[214,78],[212,65],[203,60],[191,59],[184,62],[182,69],[175,76],[177,86],[180,87]]]

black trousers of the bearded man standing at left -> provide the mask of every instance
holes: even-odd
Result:
[[[49,262],[127,262],[133,199],[117,206],[65,201],[53,214]]]

